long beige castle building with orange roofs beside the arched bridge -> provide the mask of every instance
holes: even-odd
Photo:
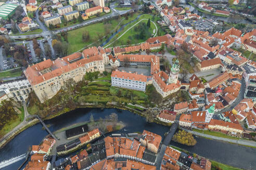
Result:
[[[81,53],[74,53],[61,59],[45,60],[24,70],[35,94],[41,103],[52,98],[65,82],[73,79],[81,81],[86,72],[102,73],[105,70],[104,59],[101,54],[83,57]]]

